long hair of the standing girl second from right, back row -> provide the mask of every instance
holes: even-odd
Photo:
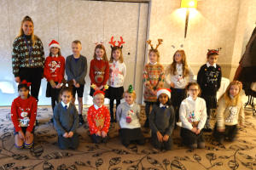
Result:
[[[187,77],[189,75],[189,66],[187,64],[187,58],[186,58],[186,54],[185,51],[183,49],[181,50],[177,50],[174,54],[173,54],[173,61],[172,64],[170,65],[170,73],[172,75],[176,75],[177,74],[177,69],[176,69],[176,65],[177,62],[175,60],[175,54],[180,53],[182,56],[182,64],[183,64],[183,77]]]

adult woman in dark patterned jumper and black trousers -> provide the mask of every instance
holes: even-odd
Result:
[[[20,34],[13,44],[12,66],[15,82],[32,82],[31,94],[38,99],[44,71],[44,47],[33,31],[32,19],[25,16],[21,21]]]

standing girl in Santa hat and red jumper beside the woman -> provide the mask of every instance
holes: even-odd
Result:
[[[61,82],[64,79],[65,59],[61,56],[59,42],[52,40],[49,43],[49,56],[44,62],[44,77],[47,79],[46,97],[51,97],[52,111],[59,103]]]

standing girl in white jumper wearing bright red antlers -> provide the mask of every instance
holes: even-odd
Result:
[[[114,119],[113,114],[113,101],[116,101],[116,108],[118,108],[120,104],[120,100],[123,98],[124,94],[124,81],[126,75],[126,65],[124,63],[123,53],[122,53],[122,44],[125,42],[123,41],[123,37],[120,37],[120,42],[116,46],[115,41],[113,42],[113,37],[111,37],[112,44],[111,47],[111,57],[109,60],[109,88],[108,88],[108,96],[107,98],[110,99],[109,103],[109,110],[111,115],[111,122],[116,122]]]

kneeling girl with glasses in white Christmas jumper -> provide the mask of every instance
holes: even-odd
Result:
[[[198,97],[201,93],[196,82],[189,82],[186,87],[189,97],[183,99],[179,108],[179,118],[182,122],[181,137],[183,144],[191,149],[205,148],[205,141],[201,129],[207,121],[206,101]]]

